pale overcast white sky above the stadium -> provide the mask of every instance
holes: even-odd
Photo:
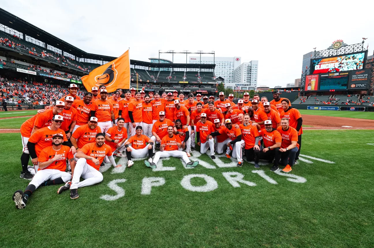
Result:
[[[89,53],[119,57],[130,48],[131,59],[149,61],[159,50],[201,50],[258,60],[258,86],[294,83],[303,54],[336,39],[351,45],[364,37],[368,55],[374,48],[369,0],[12,0],[1,8]],[[174,55],[174,63],[185,61]]]

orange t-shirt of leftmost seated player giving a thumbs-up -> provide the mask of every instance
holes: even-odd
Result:
[[[44,169],[55,169],[55,170],[65,171],[66,170],[66,159],[67,158],[68,159],[74,158],[74,155],[70,151],[69,146],[62,145],[61,148],[59,149],[59,151],[53,150],[52,146],[48,146],[48,147],[44,148],[39,154],[38,162],[42,163],[42,162],[46,162],[46,161],[54,158],[55,155],[56,155],[56,152],[57,152],[57,154],[61,155],[62,157],[59,160],[54,161],[52,164],[45,167]],[[40,170],[40,168],[38,170]]]

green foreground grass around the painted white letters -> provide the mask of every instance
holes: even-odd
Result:
[[[135,161],[123,173],[109,169],[100,184],[80,188],[77,200],[68,192],[57,195],[59,185],[38,188],[23,210],[11,200],[28,183],[19,178],[21,138],[0,134],[0,247],[373,247],[374,154],[365,143],[374,140],[357,139],[372,134],[304,131],[301,154],[335,162],[300,161],[292,173],[306,178],[305,183],[261,166],[278,182],[270,184],[246,162],[243,167],[184,169],[171,158],[163,165],[176,170],[153,172]],[[207,155],[200,160],[212,161]],[[222,172],[240,172],[257,186],[234,188]],[[206,193],[184,189],[181,179],[193,173],[213,177],[218,188]],[[165,178],[165,184],[141,195],[142,179],[152,176]],[[118,185],[125,196],[100,199],[116,195],[107,184],[122,178],[126,182]],[[191,183],[205,184],[197,178]]]

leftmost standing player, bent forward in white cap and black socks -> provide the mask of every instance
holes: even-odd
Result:
[[[35,133],[38,129],[48,127],[52,122],[52,117],[58,115],[64,109],[65,103],[62,101],[56,101],[55,106],[52,109],[47,109],[45,112],[36,114],[34,117],[28,119],[21,125],[21,140],[22,140],[22,155],[21,165],[22,172],[19,175],[20,178],[31,180],[35,169],[30,168],[28,170],[28,161],[30,160],[30,152],[27,148],[27,142],[31,134]]]

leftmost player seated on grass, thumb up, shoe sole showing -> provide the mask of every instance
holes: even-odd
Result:
[[[39,169],[25,191],[17,190],[14,192],[12,199],[16,203],[16,209],[25,208],[31,194],[38,187],[62,184],[71,179],[71,175],[65,172],[65,169],[67,159],[72,167],[75,166],[73,153],[69,151],[68,146],[62,145],[64,142],[62,133],[54,134],[51,139],[52,146],[47,146],[40,152]]]

